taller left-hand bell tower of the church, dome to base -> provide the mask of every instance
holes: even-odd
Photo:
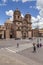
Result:
[[[20,38],[21,36],[21,12],[16,9],[13,15],[13,25],[14,25],[14,38]],[[20,33],[20,35],[19,35]]]

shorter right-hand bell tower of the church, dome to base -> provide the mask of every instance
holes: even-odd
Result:
[[[32,23],[31,23],[31,15],[30,14],[26,14],[25,15],[25,19],[27,20],[27,33],[28,33],[28,38],[31,38],[32,37]]]

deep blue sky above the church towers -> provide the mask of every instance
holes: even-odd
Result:
[[[39,16],[40,10],[37,8],[38,0],[0,0],[0,24],[3,24],[9,16],[6,11],[15,11],[18,8],[23,16],[26,13],[30,13],[35,19]],[[39,2],[39,1],[38,1]]]

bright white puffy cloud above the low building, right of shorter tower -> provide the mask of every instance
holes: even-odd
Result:
[[[32,28],[37,28],[37,26],[39,28],[43,28],[43,18],[39,15],[37,15],[37,17],[33,17],[31,18],[31,22],[32,22]]]

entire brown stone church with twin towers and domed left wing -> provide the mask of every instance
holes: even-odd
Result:
[[[0,38],[26,39],[32,37],[31,15],[21,16],[21,12],[16,9],[13,13],[13,21],[7,19],[4,25],[0,25]]]

